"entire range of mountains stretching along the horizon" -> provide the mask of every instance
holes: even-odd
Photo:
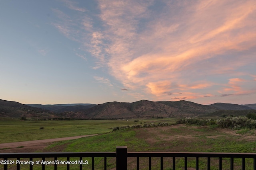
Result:
[[[34,106],[34,107],[31,107]],[[256,104],[250,104],[253,107]],[[38,108],[40,107],[40,108]],[[58,104],[24,105],[18,102],[0,101],[0,117],[60,117],[71,119],[120,119],[138,117],[198,117],[203,115],[221,116],[223,114],[246,115],[252,110],[248,105],[215,103],[201,105],[185,100],[176,102],[152,102],[140,100],[132,103],[107,102],[104,104]],[[228,110],[228,111],[224,111]],[[240,111],[240,112],[239,112]],[[244,112],[242,112],[244,111]],[[254,111],[254,110],[252,110]]]

